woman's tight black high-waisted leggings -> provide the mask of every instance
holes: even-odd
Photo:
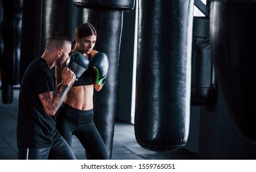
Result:
[[[63,103],[57,114],[57,128],[71,147],[72,135],[79,139],[90,158],[109,159],[99,131],[93,123],[93,109],[81,111]]]

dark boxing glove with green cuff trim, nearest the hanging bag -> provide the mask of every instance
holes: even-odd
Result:
[[[105,84],[107,71],[109,69],[109,60],[105,53],[96,53],[91,60],[90,66],[96,69],[96,83],[98,85]]]

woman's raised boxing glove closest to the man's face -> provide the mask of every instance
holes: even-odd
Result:
[[[81,74],[88,69],[90,64],[90,61],[88,58],[86,58],[83,54],[80,52],[76,52],[72,55],[70,55],[70,58],[67,60],[67,67],[70,68],[76,76],[76,80],[79,79]]]

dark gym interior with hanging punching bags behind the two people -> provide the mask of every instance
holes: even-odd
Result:
[[[73,39],[81,23],[96,27],[96,49],[109,57],[94,123],[110,159],[256,158],[255,1],[0,4],[0,159],[17,159],[25,69],[52,32]],[[72,149],[86,159],[75,136]]]

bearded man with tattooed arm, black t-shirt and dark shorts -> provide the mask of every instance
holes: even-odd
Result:
[[[54,116],[75,74],[64,68],[62,82],[56,90],[52,70],[67,60],[71,44],[64,34],[52,34],[43,55],[36,57],[23,75],[17,121],[19,159],[75,159],[72,149],[56,129]]]

